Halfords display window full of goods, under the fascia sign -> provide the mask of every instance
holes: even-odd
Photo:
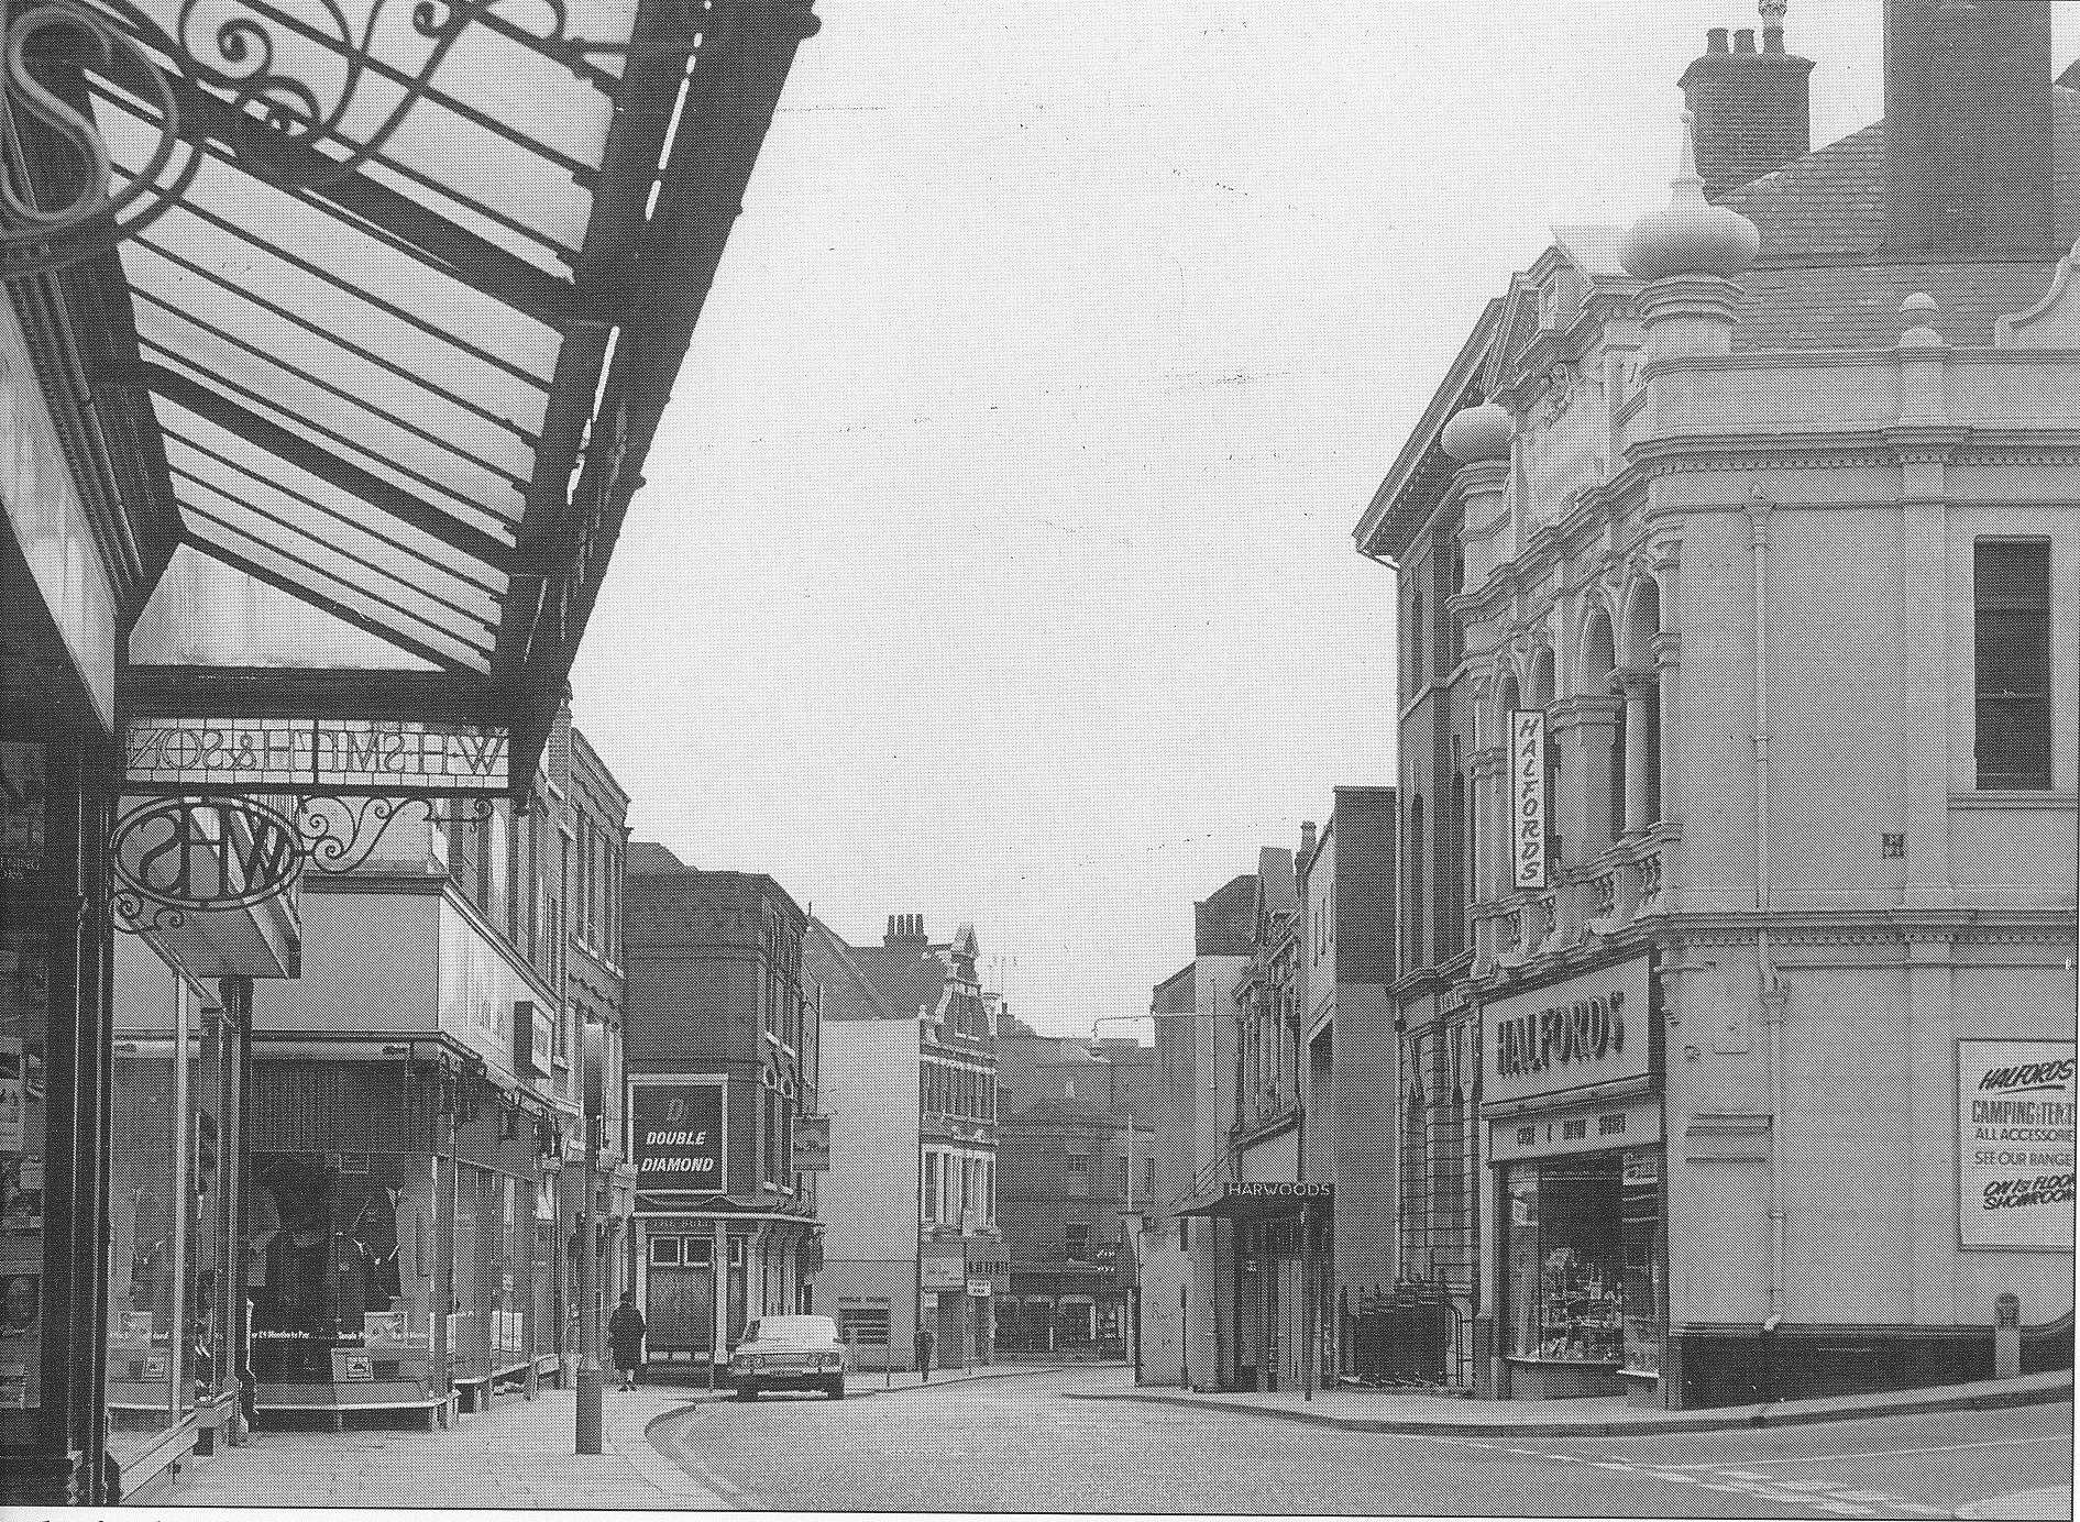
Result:
[[[1660,1154],[1508,1171],[1510,1354],[1656,1372],[1664,1316]]]

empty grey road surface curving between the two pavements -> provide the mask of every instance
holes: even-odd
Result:
[[[2072,1406],[1602,1439],[1337,1433],[1075,1401],[1069,1370],[834,1403],[718,1401],[651,1437],[757,1510],[1953,1516],[2072,1480]]]

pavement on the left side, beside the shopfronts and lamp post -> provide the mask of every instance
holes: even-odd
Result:
[[[1040,1368],[934,1370],[930,1383],[896,1372],[851,1374],[844,1393],[884,1397],[932,1391]],[[543,1389],[535,1399],[499,1395],[489,1410],[458,1416],[445,1431],[412,1420],[354,1418],[345,1433],[256,1433],[241,1447],[189,1458],[173,1491],[154,1505],[356,1505],[356,1507],[551,1507],[551,1510],[726,1510],[651,1443],[651,1428],[728,1391],[645,1385],[601,1397],[601,1453],[578,1455],[576,1391]],[[747,1408],[755,1410],[755,1406]],[[842,1410],[842,1408],[840,1408]]]

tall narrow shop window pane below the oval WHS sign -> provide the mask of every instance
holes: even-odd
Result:
[[[191,1403],[181,1372],[187,1062],[175,1062],[191,996],[148,952],[123,961],[108,1154],[108,1451],[119,1462]]]

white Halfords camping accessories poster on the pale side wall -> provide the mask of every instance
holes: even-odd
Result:
[[[2074,1250],[2074,1042],[1957,1042],[1957,1241]]]

